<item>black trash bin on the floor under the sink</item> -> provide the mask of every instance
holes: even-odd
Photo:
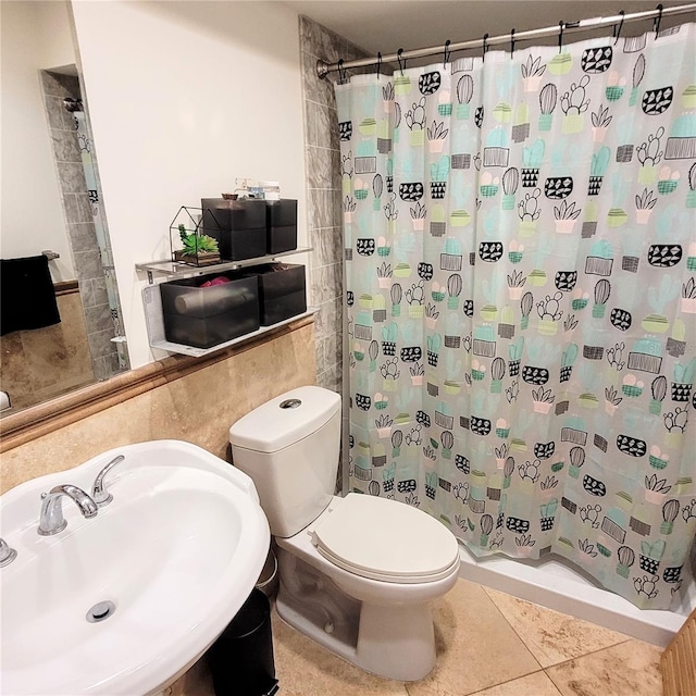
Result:
[[[253,589],[237,616],[208,650],[215,696],[273,696],[278,691],[273,662],[271,604]]]

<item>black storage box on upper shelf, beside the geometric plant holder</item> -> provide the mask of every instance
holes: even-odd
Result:
[[[202,232],[217,240],[223,261],[241,261],[265,256],[264,200],[202,198],[200,206],[203,209]]]

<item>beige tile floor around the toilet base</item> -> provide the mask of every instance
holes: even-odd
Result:
[[[423,681],[373,676],[273,613],[279,696],[660,696],[662,650],[459,580],[434,604],[437,664]],[[171,696],[214,696],[202,661]],[[231,695],[234,696],[234,695]]]

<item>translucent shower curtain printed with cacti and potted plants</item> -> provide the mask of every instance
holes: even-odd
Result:
[[[350,488],[656,609],[696,534],[695,47],[336,86]]]

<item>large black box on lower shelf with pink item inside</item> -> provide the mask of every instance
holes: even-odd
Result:
[[[229,283],[198,287],[224,275]],[[212,348],[259,328],[259,286],[254,275],[202,275],[160,285],[164,335],[175,344]]]

